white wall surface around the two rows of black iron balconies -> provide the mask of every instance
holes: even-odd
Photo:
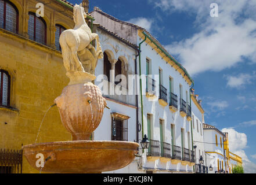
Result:
[[[138,43],[142,42],[139,40],[138,37]],[[180,93],[179,93],[179,84],[182,84],[183,86],[183,100],[186,101],[186,91],[188,91],[189,95],[189,84],[185,81],[185,79],[182,78],[179,72],[175,71],[174,68],[171,67],[170,64],[167,64],[164,60],[161,59],[159,55],[157,55],[156,51],[152,50],[152,47],[149,45],[146,46],[146,43],[142,43],[141,45],[141,69],[142,69],[142,75],[146,75],[146,58],[150,60],[150,71],[152,75],[158,75],[158,69],[162,69],[163,71],[163,78],[161,79],[161,82],[165,88],[167,88],[168,92],[168,105],[163,107],[158,102],[158,97],[154,99],[154,101],[150,98],[147,98],[145,95],[143,95],[143,121],[144,121],[144,134],[147,134],[147,113],[152,114],[152,139],[159,140],[160,141],[160,119],[163,121],[163,140],[164,142],[171,144],[171,124],[175,125],[175,145],[181,147],[181,128],[184,129],[184,143],[185,148],[188,149],[188,132],[190,133],[190,150],[192,150],[192,136],[191,136],[191,128],[190,128],[190,122],[186,120],[186,117],[182,117],[179,113],[180,109]],[[172,92],[176,95],[178,95],[178,111],[175,113],[172,113],[169,108],[169,102],[170,102],[170,88],[169,88],[169,77],[172,77],[174,88]],[[153,79],[156,80],[156,87],[158,89],[158,78],[155,78],[153,76]],[[146,83],[143,83],[142,86],[143,92],[146,91]],[[157,91],[157,95],[158,92]],[[188,96],[189,98],[189,96]],[[189,103],[189,102],[188,102]],[[140,103],[139,103],[140,105]],[[139,119],[141,119],[141,115],[139,114]],[[149,162],[147,161],[145,166],[147,167],[156,167],[157,168],[169,168],[175,171],[191,171],[192,166],[183,166],[181,163],[178,165],[173,164],[166,164],[161,161],[154,161]]]

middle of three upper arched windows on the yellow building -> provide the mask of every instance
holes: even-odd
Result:
[[[29,12],[28,36],[31,40],[46,45],[46,23],[42,17],[37,17],[35,13]]]

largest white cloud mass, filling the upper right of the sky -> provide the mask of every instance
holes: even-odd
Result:
[[[156,6],[163,11],[196,15],[200,31],[191,38],[167,45],[178,56],[190,75],[204,71],[221,71],[244,62],[256,61],[256,2],[249,0],[216,0],[219,17],[210,17],[211,0],[161,0]],[[243,14],[243,16],[241,16]],[[254,62],[255,62],[254,61]]]

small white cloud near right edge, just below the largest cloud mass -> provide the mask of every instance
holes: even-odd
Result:
[[[241,88],[244,87],[246,84],[250,84],[251,80],[255,78],[255,75],[249,75],[241,73],[236,76],[226,76],[228,80],[227,86],[233,88]]]

